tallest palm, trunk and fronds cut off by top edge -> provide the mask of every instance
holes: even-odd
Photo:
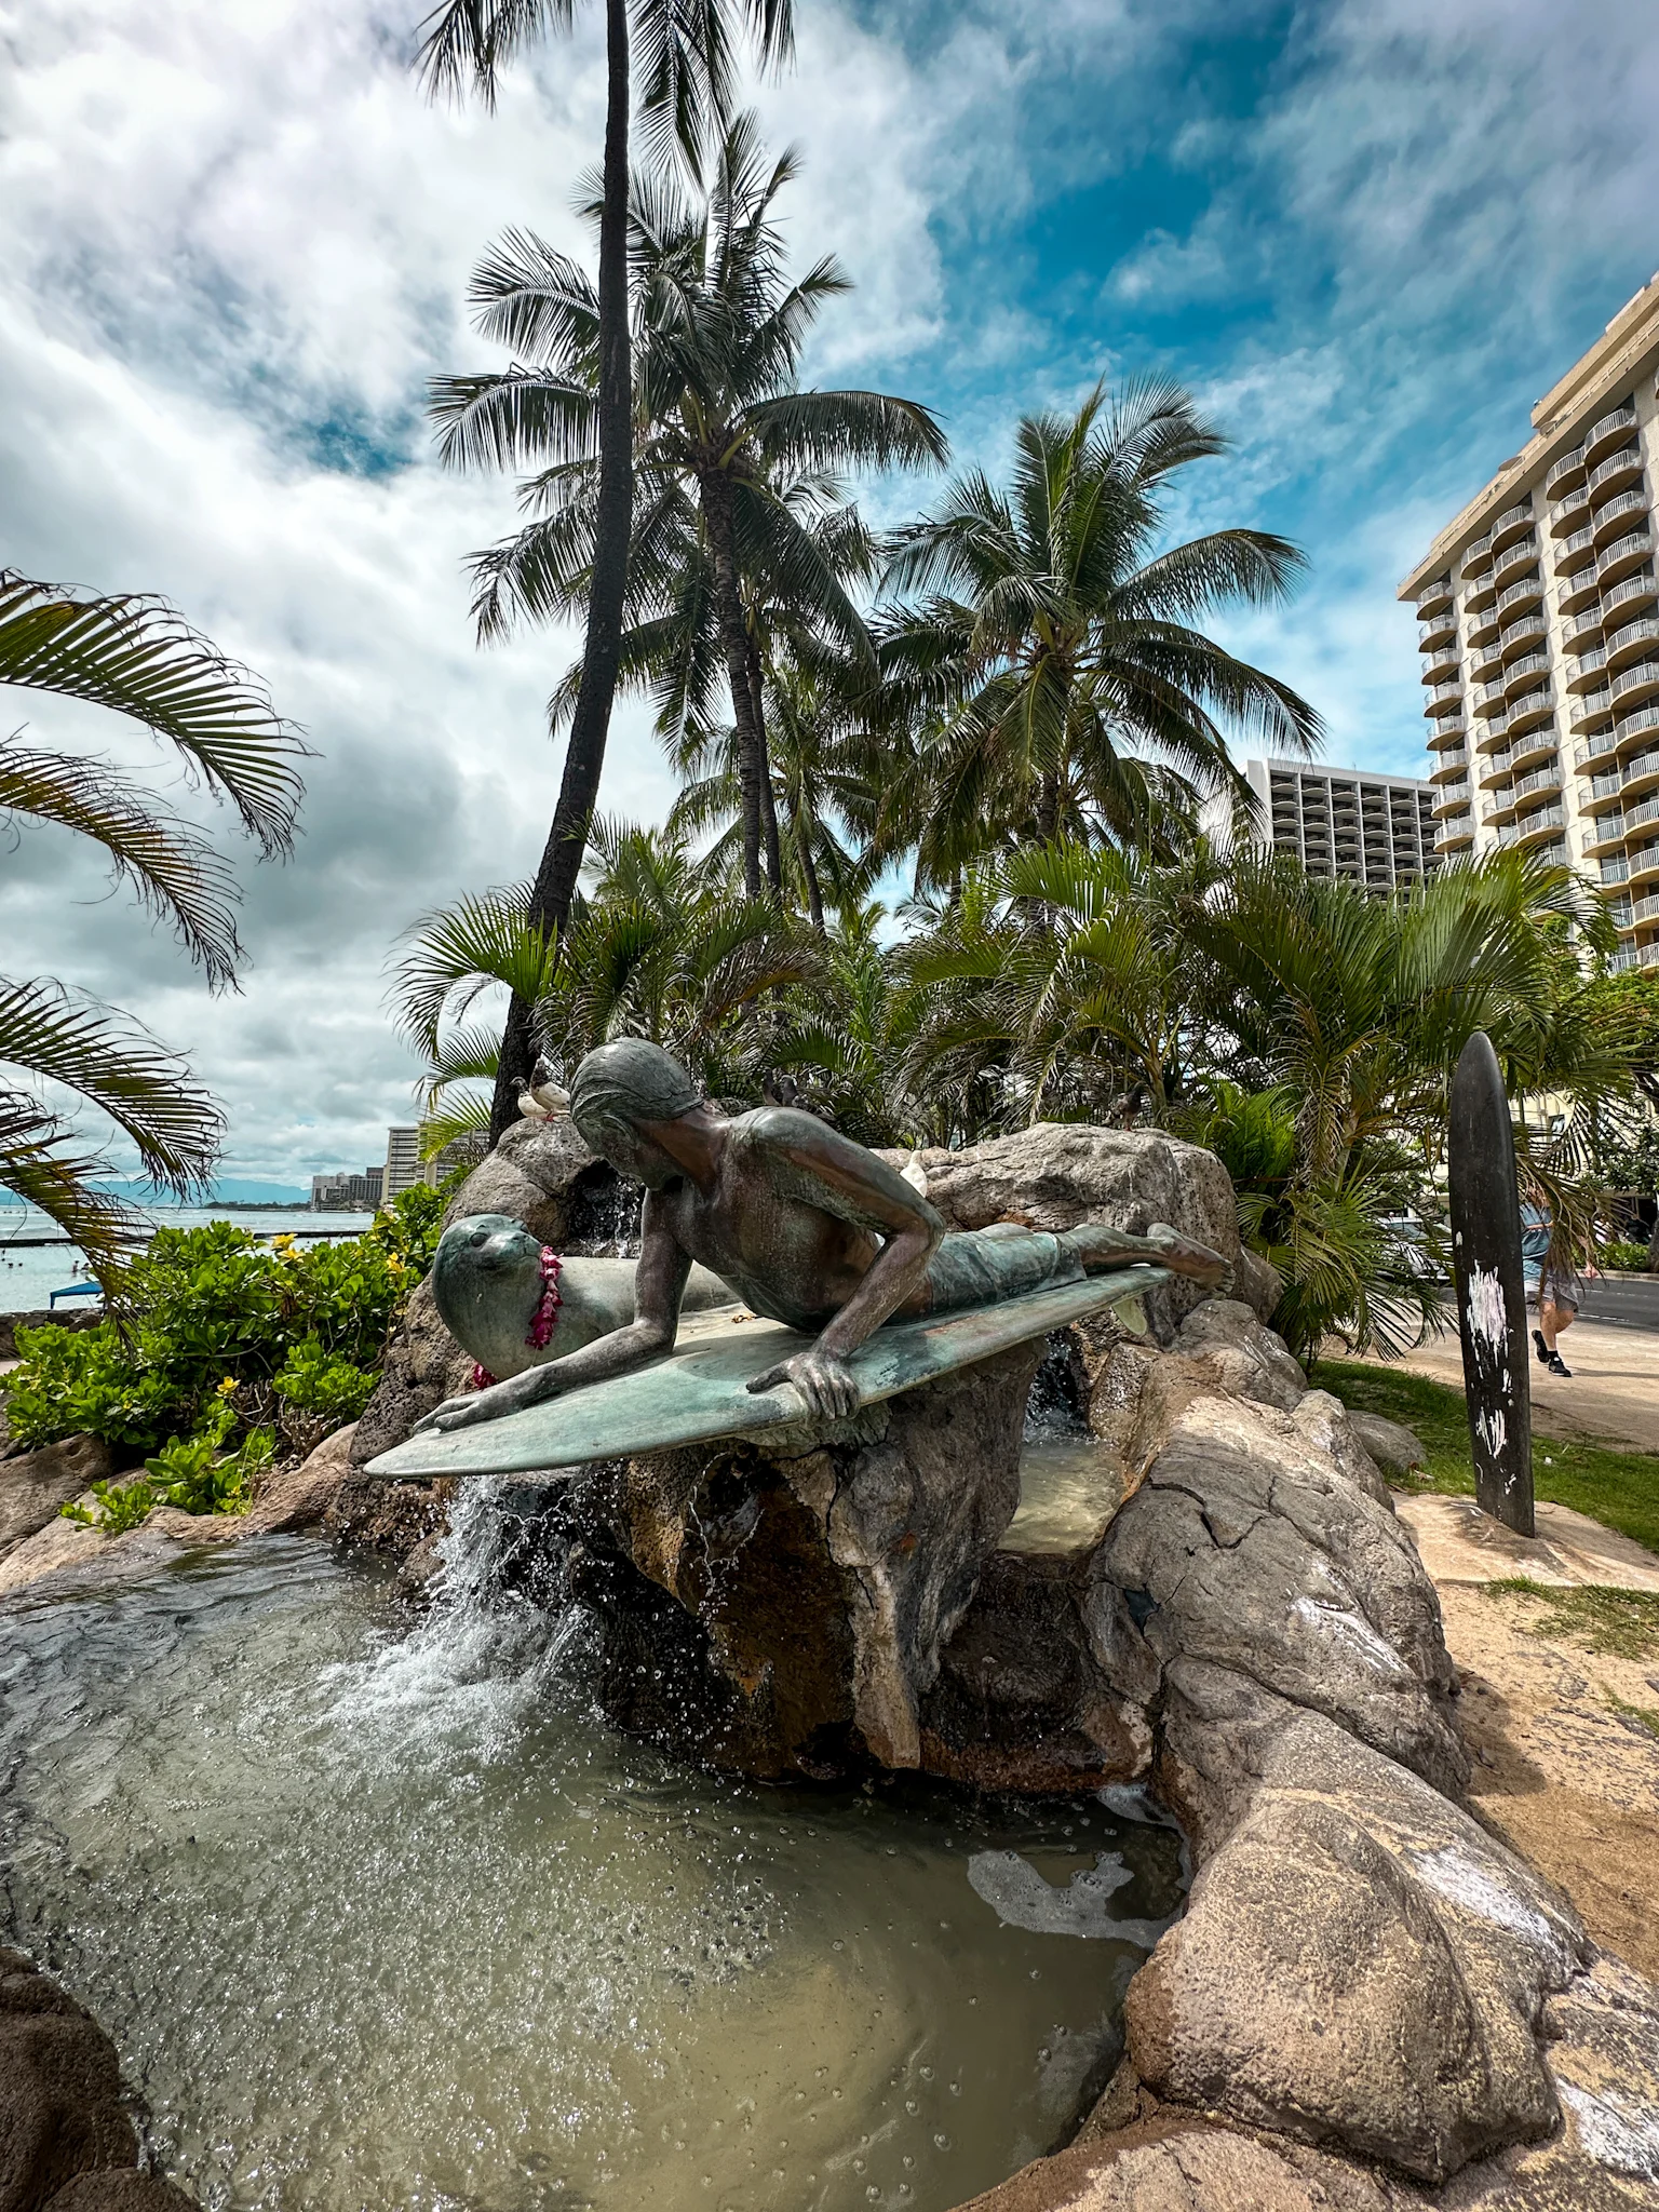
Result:
[[[575,0],[442,0],[427,15],[418,66],[427,88],[458,97],[467,86],[495,102],[498,71],[544,31],[566,31]],[[542,860],[531,885],[531,920],[560,931],[571,911],[588,823],[599,799],[611,703],[617,686],[628,538],[633,531],[633,372],[628,361],[628,128],[630,42],[646,60],[641,124],[648,148],[679,146],[688,164],[732,106],[734,33],[748,31],[763,66],[781,64],[794,40],[792,0],[604,0],[606,126],[599,215],[599,294],[595,312],[597,396],[584,451],[597,456],[597,515],[584,679],[564,750],[564,776]],[[507,1126],[513,1079],[529,1075],[531,1011],[513,995],[502,1035],[498,1133]]]

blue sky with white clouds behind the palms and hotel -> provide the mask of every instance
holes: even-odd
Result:
[[[1314,699],[1332,759],[1413,772],[1394,586],[1659,263],[1659,11],[796,4],[799,66],[757,102],[805,155],[801,254],[858,283],[812,374],[929,400],[989,467],[1022,407],[1188,380],[1234,453],[1177,526],[1279,529],[1312,564],[1228,639]],[[296,860],[248,869],[239,998],[208,1000],[55,832],[0,852],[4,964],[188,1046],[246,1175],[376,1157],[411,1075],[385,951],[429,900],[533,865],[557,774],[540,703],[571,641],[473,650],[460,562],[511,498],[434,469],[420,387],[491,358],[462,288],[500,228],[582,248],[595,24],[491,119],[418,100],[416,13],[0,0],[0,562],[168,593],[321,752]],[[102,717],[0,710],[170,774]],[[668,796],[624,712],[606,807]]]

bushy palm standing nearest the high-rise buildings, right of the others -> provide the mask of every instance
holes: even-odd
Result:
[[[1194,628],[1287,597],[1301,553],[1265,531],[1155,551],[1170,478],[1225,438],[1170,383],[1026,416],[1011,489],[980,471],[894,538],[883,626],[889,721],[920,730],[883,841],[947,885],[987,847],[1060,834],[1144,841],[1170,801],[1225,783],[1228,730],[1310,752],[1318,714]],[[920,595],[920,597],[902,597]]]

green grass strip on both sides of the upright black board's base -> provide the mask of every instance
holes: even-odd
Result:
[[[1402,1478],[1398,1489],[1473,1495],[1469,1416],[1460,1389],[1367,1360],[1321,1360],[1312,1380],[1314,1389],[1332,1391],[1356,1413],[1387,1413],[1416,1429],[1429,1464]],[[1659,1453],[1535,1436],[1533,1493],[1659,1551]]]

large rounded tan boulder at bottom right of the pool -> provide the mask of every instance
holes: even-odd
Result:
[[[1447,1796],[1298,1712],[1128,1991],[1164,2099],[1440,2181],[1559,2124],[1540,2022],[1590,1944]],[[1214,1838],[1212,1838],[1214,1845]]]

